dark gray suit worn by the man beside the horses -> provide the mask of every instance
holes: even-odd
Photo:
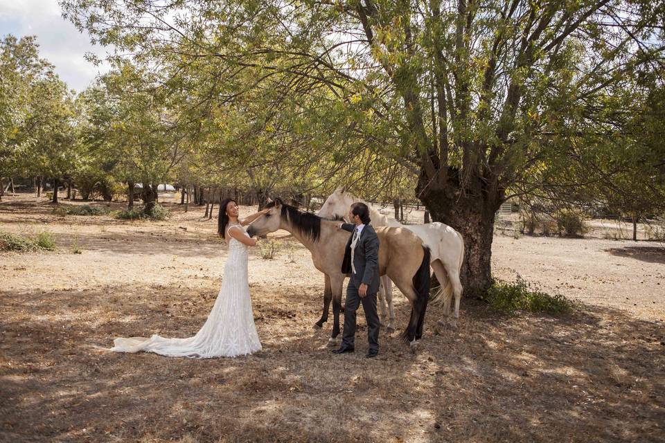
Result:
[[[353,232],[355,224],[342,224],[342,229]],[[342,334],[342,347],[354,347],[355,339],[355,316],[358,307],[362,303],[367,322],[367,340],[369,350],[379,350],[379,316],[376,311],[376,293],[379,290],[379,238],[374,228],[368,224],[362,228],[362,233],[357,239],[353,251],[353,267],[351,266],[351,240],[348,239],[342,272],[351,273],[351,281],[346,288],[346,307],[344,308],[344,333]],[[361,298],[358,294],[360,284],[367,285],[367,295]]]

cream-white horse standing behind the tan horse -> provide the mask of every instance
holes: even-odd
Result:
[[[347,194],[338,188],[326,199],[318,215],[319,217],[330,218],[344,217],[348,213],[348,208],[359,201],[362,202],[361,199]],[[372,226],[407,228],[418,235],[423,240],[423,244],[432,251],[432,262],[429,265],[434,269],[436,280],[441,283],[441,289],[432,296],[432,301],[436,301],[437,299],[443,300],[443,312],[447,320],[447,322],[439,320],[438,323],[441,325],[447,323],[452,327],[456,327],[457,319],[459,318],[459,302],[462,297],[462,284],[459,280],[459,272],[462,267],[462,261],[464,260],[464,239],[462,235],[450,226],[439,223],[438,221],[427,224],[403,225],[399,221],[389,219],[379,213],[369,204],[367,206],[370,212],[369,217],[372,219]],[[385,280],[387,278],[382,278],[381,282],[385,291],[385,300],[388,302],[390,324],[393,322],[395,314],[393,313],[393,297],[390,282]],[[455,310],[454,316],[450,318],[450,305],[453,295],[455,297]],[[386,316],[386,301],[384,301],[383,297],[380,297],[380,302],[381,316],[384,319]]]

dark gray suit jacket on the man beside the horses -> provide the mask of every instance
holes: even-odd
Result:
[[[353,233],[355,224],[344,223],[342,229]],[[367,285],[367,293],[377,293],[379,291],[379,237],[371,224],[362,228],[353,252],[353,266],[357,272],[355,274],[351,269],[352,239],[353,235],[349,236],[348,242],[346,242],[342,272],[351,274],[351,282],[355,287],[360,287],[360,284],[364,283]]]

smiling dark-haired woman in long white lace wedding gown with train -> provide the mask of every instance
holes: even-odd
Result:
[[[206,323],[190,338],[116,338],[112,351],[154,352],[172,357],[207,359],[210,357],[235,357],[261,349],[251,311],[249,282],[247,280],[247,246],[256,246],[258,239],[251,238],[243,228],[267,210],[238,220],[238,205],[233,199],[220,204],[218,233],[229,244],[229,257],[224,266],[222,289],[215,300]]]

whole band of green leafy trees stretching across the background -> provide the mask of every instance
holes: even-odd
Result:
[[[510,197],[665,212],[662,2],[60,3],[114,69],[76,95],[3,37],[4,179],[142,183],[148,213],[168,181],[417,199],[462,233],[468,295]]]

